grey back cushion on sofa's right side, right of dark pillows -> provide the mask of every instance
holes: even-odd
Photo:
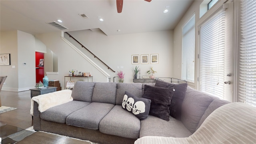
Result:
[[[187,87],[186,95],[182,103],[181,121],[192,133],[204,115],[206,109],[213,100],[219,99],[210,94]]]

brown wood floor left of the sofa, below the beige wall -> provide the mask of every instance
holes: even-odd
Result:
[[[0,114],[1,123],[23,129],[33,125],[30,114],[30,90],[24,92],[1,91],[0,96],[2,106],[17,108],[16,110]]]

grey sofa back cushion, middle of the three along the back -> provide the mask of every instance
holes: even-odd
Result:
[[[92,102],[116,104],[116,83],[97,82],[93,89]]]

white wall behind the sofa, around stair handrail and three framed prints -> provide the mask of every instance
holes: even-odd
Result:
[[[110,68],[116,71],[122,70],[125,73],[124,82],[131,83],[134,75],[135,66],[139,66],[142,75],[148,75],[147,70],[153,66],[157,71],[156,77],[172,76],[172,47],[173,32],[147,32],[137,34],[126,34],[117,36],[106,36],[100,31],[76,31],[69,32],[86,48],[93,52]],[[47,48],[50,48],[58,56],[58,73],[49,78],[58,79],[61,85],[64,85],[64,76],[72,69],[78,72],[90,72],[94,76],[95,82],[106,82],[100,72],[91,66],[86,60],[78,55],[72,48],[65,44],[61,38],[60,32],[40,34],[36,37],[40,39]],[[159,64],[132,64],[132,55],[134,54],[159,54]],[[95,59],[92,59],[95,60]],[[102,67],[111,79],[117,76],[116,73]],[[112,80],[111,80],[112,81]]]

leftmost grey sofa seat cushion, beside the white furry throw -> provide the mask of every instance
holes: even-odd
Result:
[[[51,122],[65,124],[68,115],[87,106],[88,104],[90,104],[90,102],[73,100],[71,102],[49,108],[40,114],[40,118]]]

